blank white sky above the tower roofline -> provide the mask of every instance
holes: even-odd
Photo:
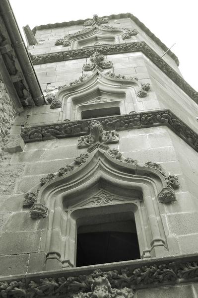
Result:
[[[180,70],[198,91],[197,0],[10,0],[19,28],[131,12],[178,56]]]

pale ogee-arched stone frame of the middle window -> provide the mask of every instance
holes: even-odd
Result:
[[[139,88],[141,84],[135,79],[112,78],[97,70],[85,81],[75,86],[62,88],[56,94],[56,99],[63,102],[62,121],[65,119],[80,120],[83,110],[101,107],[119,106],[121,114],[138,112],[136,93]],[[107,101],[92,103],[95,99],[93,94],[97,90],[107,94]],[[117,96],[118,93],[121,94],[120,98]]]

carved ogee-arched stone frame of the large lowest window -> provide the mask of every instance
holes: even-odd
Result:
[[[46,270],[74,266],[77,229],[75,223],[67,219],[66,206],[70,204],[76,208],[74,206],[80,195],[100,181],[120,187],[123,191],[135,190],[142,194],[144,211],[137,206],[139,216],[136,215],[136,219],[140,219],[136,220],[137,234],[141,234],[138,236],[140,254],[142,257],[168,255],[157,198],[158,193],[167,185],[164,176],[151,168],[119,162],[103,149],[95,149],[92,153],[79,168],[46,183],[39,191],[38,203],[45,204],[49,209],[47,233],[41,239],[47,253]],[[127,203],[134,204],[137,200],[132,201],[131,198]]]

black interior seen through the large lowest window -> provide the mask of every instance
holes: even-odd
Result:
[[[135,222],[116,222],[115,230],[112,229],[112,224],[109,225],[111,230],[106,230],[106,223],[105,228],[100,224],[102,231],[98,231],[97,225],[97,231],[93,231],[94,225],[91,225],[91,232],[78,232],[77,267],[140,259],[137,234],[134,232]],[[123,229],[126,225],[128,228]]]

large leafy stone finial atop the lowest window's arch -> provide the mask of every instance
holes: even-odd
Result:
[[[79,137],[78,147],[90,147],[88,149],[88,151],[90,151],[92,148],[95,148],[94,145],[97,143],[106,145],[119,142],[119,135],[116,130],[105,131],[102,124],[97,120],[91,121],[89,128],[90,134],[88,136]],[[107,148],[108,147],[104,147],[104,149]]]

